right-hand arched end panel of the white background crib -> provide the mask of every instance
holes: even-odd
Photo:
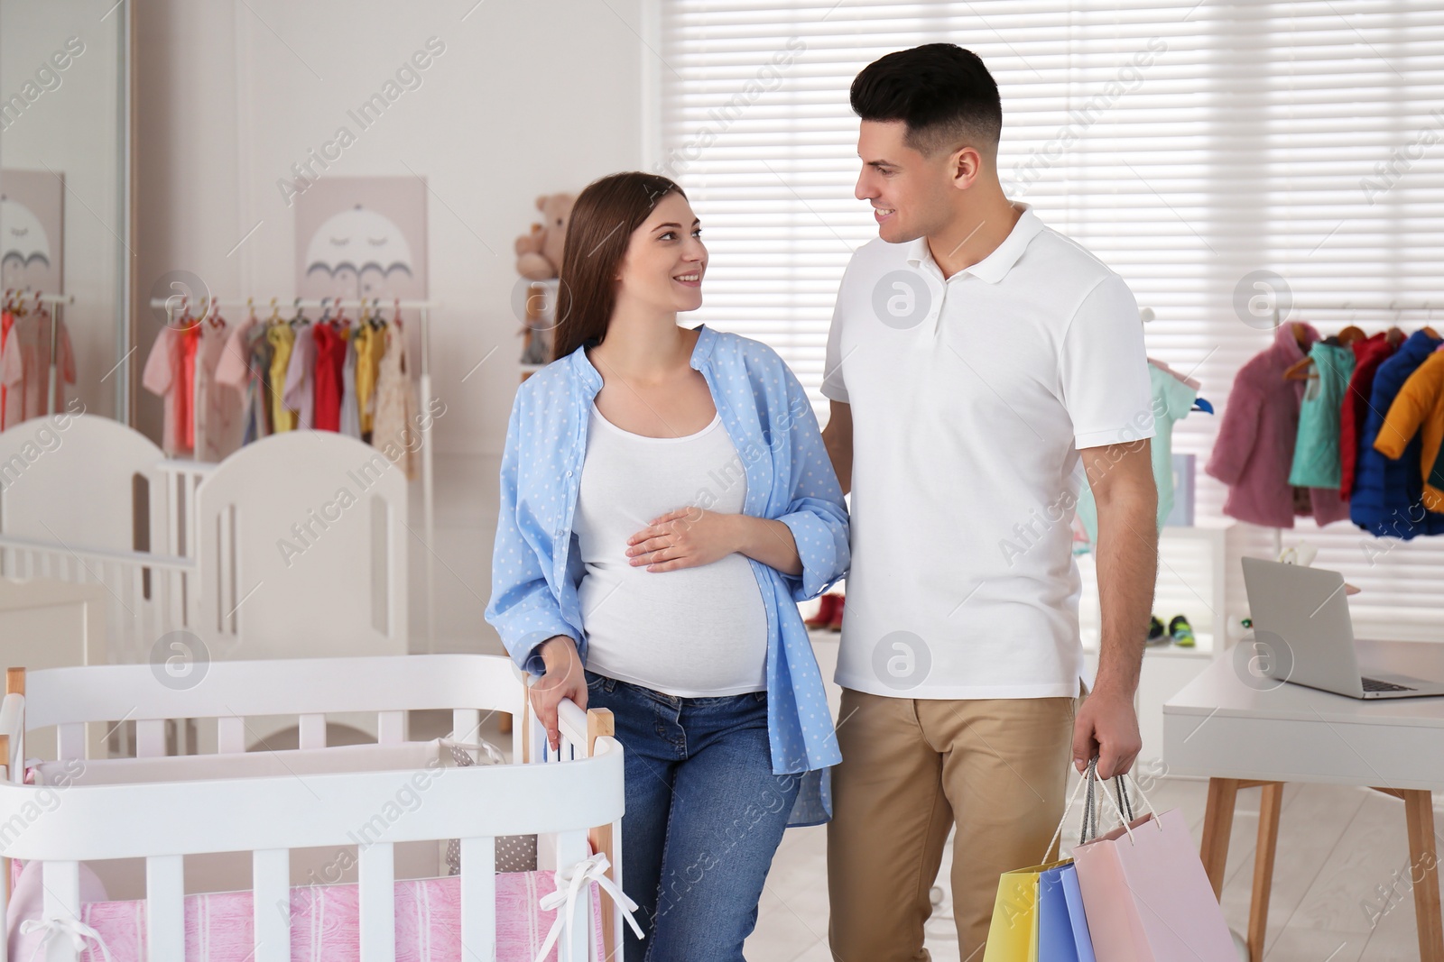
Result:
[[[286,431],[196,490],[191,627],[212,658],[407,652],[406,475],[370,444]]]

